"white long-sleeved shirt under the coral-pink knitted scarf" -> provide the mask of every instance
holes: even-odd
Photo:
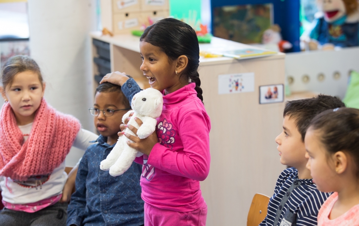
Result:
[[[19,126],[19,128],[24,135],[27,135],[30,134],[32,124],[33,123],[29,123],[24,126]],[[29,136],[24,136],[24,141],[26,141],[28,137]],[[75,138],[73,146],[85,151],[87,147],[93,144],[90,143],[90,141],[96,140],[97,137],[96,134],[81,129]],[[39,182],[37,186],[31,183],[32,186],[29,186],[27,183],[14,182],[9,177],[0,176],[1,196],[3,196],[5,202],[11,204],[34,203],[61,194],[66,180],[65,161],[62,162],[59,167],[55,168],[50,176],[41,178],[41,183]],[[43,183],[43,181],[45,181],[45,183]]]

